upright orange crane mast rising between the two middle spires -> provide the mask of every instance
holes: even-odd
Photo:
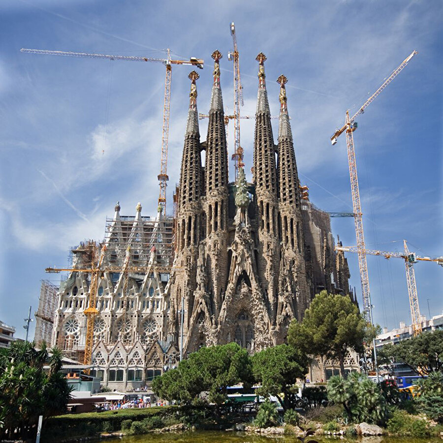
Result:
[[[230,25],[234,51],[228,52],[228,60],[234,62],[234,154],[235,181],[237,181],[238,169],[244,166],[243,148],[240,146],[240,103],[243,106],[243,86],[240,79],[240,57],[237,48],[237,36],[235,34],[234,22]]]

